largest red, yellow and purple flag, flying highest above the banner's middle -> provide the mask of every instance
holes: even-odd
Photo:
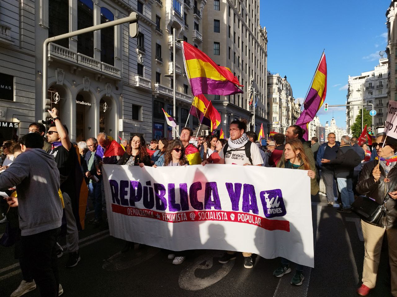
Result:
[[[200,49],[183,41],[183,58],[185,69],[193,95],[233,95],[243,93],[238,87],[240,85],[237,77],[230,69],[218,66]]]

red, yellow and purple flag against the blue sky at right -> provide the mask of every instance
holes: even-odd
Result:
[[[304,110],[299,116],[296,125],[301,126],[304,130],[303,138],[308,138],[308,124],[313,120],[314,116],[322,106],[327,93],[327,62],[325,59],[325,53],[322,54],[320,63],[314,74],[312,87],[310,88],[306,99],[304,99],[303,107]]]

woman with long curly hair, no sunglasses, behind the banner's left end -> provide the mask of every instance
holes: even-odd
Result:
[[[141,134],[134,134],[125,148],[125,154],[119,159],[118,165],[152,166],[150,155],[146,149],[145,139]]]

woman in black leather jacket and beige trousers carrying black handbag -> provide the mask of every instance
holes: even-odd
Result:
[[[384,134],[376,138],[376,143],[378,157],[364,164],[357,192],[372,198],[377,204],[362,196],[353,204],[353,210],[361,217],[364,236],[362,285],[357,293],[366,296],[375,287],[383,236],[386,233],[391,294],[397,297],[397,139]]]

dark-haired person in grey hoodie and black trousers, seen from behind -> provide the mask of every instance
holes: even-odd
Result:
[[[0,175],[0,189],[16,186],[17,197],[7,198],[18,207],[23,255],[41,296],[58,296],[59,275],[56,240],[62,224],[62,202],[58,194],[59,171],[54,158],[43,147],[38,133],[24,135],[20,154]]]

